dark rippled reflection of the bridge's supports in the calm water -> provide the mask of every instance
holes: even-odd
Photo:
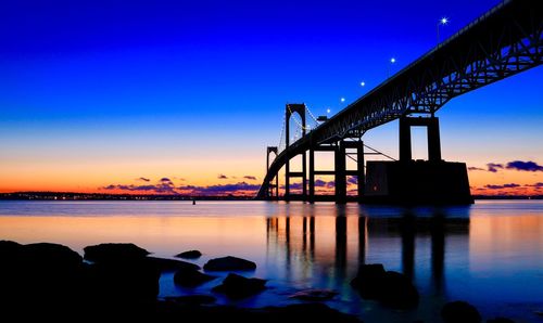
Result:
[[[404,212],[393,217],[346,215],[338,208],[336,217],[289,214],[266,219],[268,251],[283,253],[287,272],[298,272],[301,280],[315,276],[315,271],[340,284],[353,277],[357,268],[376,262],[375,255],[401,260],[401,271],[414,280],[416,242],[430,245],[430,285],[435,293],[443,289],[446,241],[467,247],[469,218],[447,218],[435,212],[429,217],[416,217]],[[400,246],[399,246],[400,243]],[[390,250],[389,250],[390,249]],[[428,251],[419,249],[420,253]],[[397,255],[397,254],[401,255]],[[368,259],[369,256],[369,259]],[[379,258],[379,257],[377,257]],[[387,267],[387,266],[386,266]],[[295,274],[295,273],[291,273]],[[319,275],[318,273],[316,275]]]

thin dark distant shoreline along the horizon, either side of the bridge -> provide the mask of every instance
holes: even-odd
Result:
[[[473,195],[475,199],[543,199],[543,195]],[[189,196],[160,194],[103,194],[76,192],[0,193],[0,199],[17,201],[252,201],[254,196]]]

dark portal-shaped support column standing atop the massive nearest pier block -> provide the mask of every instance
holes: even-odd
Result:
[[[411,127],[426,127],[428,137],[428,160],[441,160],[439,119],[437,117],[400,118],[400,162],[409,162],[412,156]]]

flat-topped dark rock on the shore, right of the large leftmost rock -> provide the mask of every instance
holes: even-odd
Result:
[[[135,244],[99,244],[84,248],[85,259],[93,262],[141,260],[150,253]]]

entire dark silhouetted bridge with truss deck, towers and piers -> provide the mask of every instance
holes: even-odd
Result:
[[[539,66],[543,60],[542,8],[539,0],[503,1],[329,119],[315,118],[303,103],[287,104],[281,131],[285,148],[267,147],[266,176],[256,197],[344,203],[346,182],[354,177],[355,198],[361,202],[472,203],[466,165],[441,158],[435,112],[455,96]],[[307,116],[315,127],[308,125]],[[368,153],[363,135],[396,119],[400,159],[365,163]],[[300,128],[300,138],[292,143],[291,120]],[[427,128],[428,160],[412,160],[414,126]],[[315,152],[323,151],[333,153],[333,170],[315,170]],[[270,163],[272,154],[275,159]],[[290,169],[296,156],[302,157],[302,171]],[[346,158],[356,162],[356,169],[346,169]],[[280,196],[282,168],[285,193]],[[316,176],[334,177],[333,195],[315,194]],[[293,178],[301,179],[300,194],[291,193]]]

